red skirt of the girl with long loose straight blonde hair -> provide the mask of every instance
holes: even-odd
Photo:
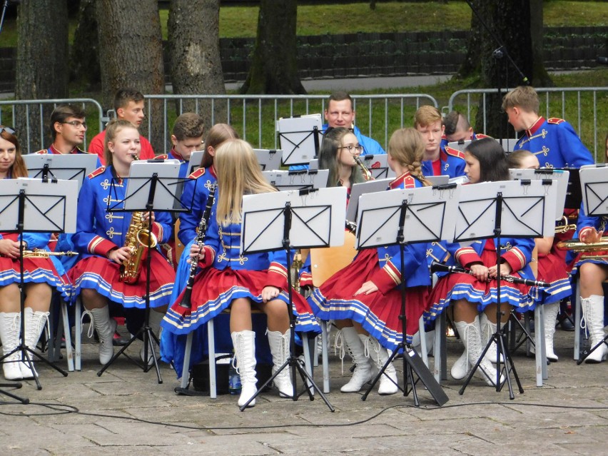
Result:
[[[161,325],[171,333],[188,334],[216,317],[235,299],[248,298],[254,303],[263,305],[262,290],[266,285],[268,285],[266,270],[206,268],[195,278],[191,307],[183,308],[179,305],[183,298],[184,292],[182,292],[167,310]],[[301,333],[320,332],[317,320],[303,296],[295,291],[291,294],[293,315],[296,318],[295,330]],[[281,290],[276,299],[288,303],[288,292]]]

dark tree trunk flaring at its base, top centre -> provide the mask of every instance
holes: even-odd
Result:
[[[253,59],[241,93],[306,93],[298,77],[296,0],[260,0]]]

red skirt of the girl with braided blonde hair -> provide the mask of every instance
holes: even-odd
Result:
[[[355,292],[370,280],[380,267],[378,250],[366,249],[346,268],[339,270],[308,298],[310,307],[321,320],[353,320],[380,341],[395,350],[402,342],[401,288],[395,287],[383,295],[379,291],[369,295]],[[418,331],[418,320],[427,309],[428,287],[405,288],[406,340]]]

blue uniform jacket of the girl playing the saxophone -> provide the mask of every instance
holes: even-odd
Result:
[[[83,255],[106,256],[113,248],[125,245],[131,213],[107,212],[106,209],[108,200],[114,206],[124,199],[127,180],[115,181],[112,187],[112,178],[112,167],[102,166],[83,181],[78,195],[76,233],[72,237],[74,247]],[[122,204],[118,206],[121,207]],[[152,232],[160,245],[171,238],[171,214],[159,211],[154,217]]]

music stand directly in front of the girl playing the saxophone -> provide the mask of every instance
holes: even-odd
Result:
[[[152,229],[151,213],[153,211],[163,211],[168,213],[186,212],[180,201],[178,191],[188,179],[179,178],[180,163],[177,160],[148,160],[136,161],[131,163],[129,169],[129,177],[127,181],[126,193],[123,199],[118,198],[116,193],[116,179],[112,179],[110,184],[110,198],[108,198],[108,212],[148,212],[148,227]],[[114,195],[114,198],[112,198]],[[114,201],[114,203],[113,203]],[[121,207],[122,206],[122,207]],[[152,328],[150,328],[150,265],[151,265],[151,249],[152,236],[148,236],[148,255],[146,255],[146,295],[144,300],[146,306],[144,308],[143,326],[139,328],[136,334],[131,336],[126,345],[123,345],[118,353],[115,353],[111,360],[108,361],[101,370],[98,371],[98,377],[110,367],[110,365],[120,356],[125,350],[140,336],[143,336],[143,372],[151,370],[151,365],[148,363],[148,349],[154,350],[153,343],[160,346],[160,341]],[[127,358],[133,360],[125,354]],[[156,369],[156,378],[158,383],[162,383],[161,370],[158,368],[158,360],[153,351],[153,366]],[[134,363],[138,364],[133,360]]]

